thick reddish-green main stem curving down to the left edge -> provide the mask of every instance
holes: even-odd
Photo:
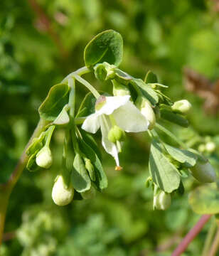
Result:
[[[2,241],[2,236],[4,232],[4,222],[6,218],[6,209],[9,203],[9,197],[11,195],[11,191],[13,190],[14,186],[16,185],[16,182],[18,181],[18,178],[21,176],[23,169],[26,166],[26,163],[28,161],[28,156],[26,155],[26,149],[31,144],[33,138],[38,137],[41,132],[46,127],[46,124],[48,122],[41,119],[38,122],[38,125],[33,132],[33,135],[31,136],[31,139],[29,140],[28,144],[26,145],[26,148],[23,150],[23,154],[21,155],[21,158],[18,161],[18,164],[16,165],[16,168],[14,169],[13,173],[11,174],[9,180],[6,183],[0,184],[0,245]]]

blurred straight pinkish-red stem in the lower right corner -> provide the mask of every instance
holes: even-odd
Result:
[[[202,215],[200,220],[198,220],[198,223],[196,223],[196,225],[193,226],[193,228],[188,232],[185,238],[183,238],[183,240],[178,245],[178,247],[176,247],[171,256],[181,255],[181,253],[186,250],[191,241],[196,238],[196,235],[201,232],[203,226],[205,225],[205,223],[207,223],[210,217],[211,215],[208,214]]]

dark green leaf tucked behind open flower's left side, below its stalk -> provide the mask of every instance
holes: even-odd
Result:
[[[94,113],[96,100],[94,95],[92,95],[91,92],[88,92],[79,107],[76,117],[87,117],[89,114]]]

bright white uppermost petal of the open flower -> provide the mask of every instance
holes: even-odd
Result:
[[[105,105],[100,110],[97,110],[98,114],[112,114],[114,110],[126,104],[129,101],[130,95],[125,96],[113,96],[106,97]]]

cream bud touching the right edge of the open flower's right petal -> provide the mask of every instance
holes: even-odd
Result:
[[[143,114],[144,117],[146,117],[146,119],[149,121],[149,129],[153,129],[156,123],[156,117],[154,114],[154,110],[151,107],[151,103],[146,100],[145,97],[138,96],[135,104],[137,108],[141,111],[141,114]]]

